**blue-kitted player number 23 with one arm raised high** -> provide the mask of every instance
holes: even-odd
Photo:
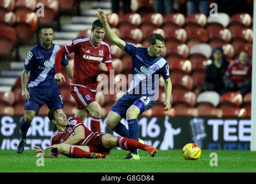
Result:
[[[131,43],[125,43],[116,36],[107,23],[106,15],[98,9],[97,16],[103,24],[108,39],[127,52],[132,57],[132,75],[130,88],[112,106],[107,118],[107,127],[123,137],[139,140],[139,125],[137,117],[152,108],[157,100],[159,74],[165,81],[165,108],[170,109],[170,95],[172,83],[169,77],[168,62],[161,56],[165,40],[161,34],[154,33],[149,38],[149,48],[138,47]],[[128,129],[120,122],[126,118]],[[130,152],[125,159],[140,159],[138,150]]]

